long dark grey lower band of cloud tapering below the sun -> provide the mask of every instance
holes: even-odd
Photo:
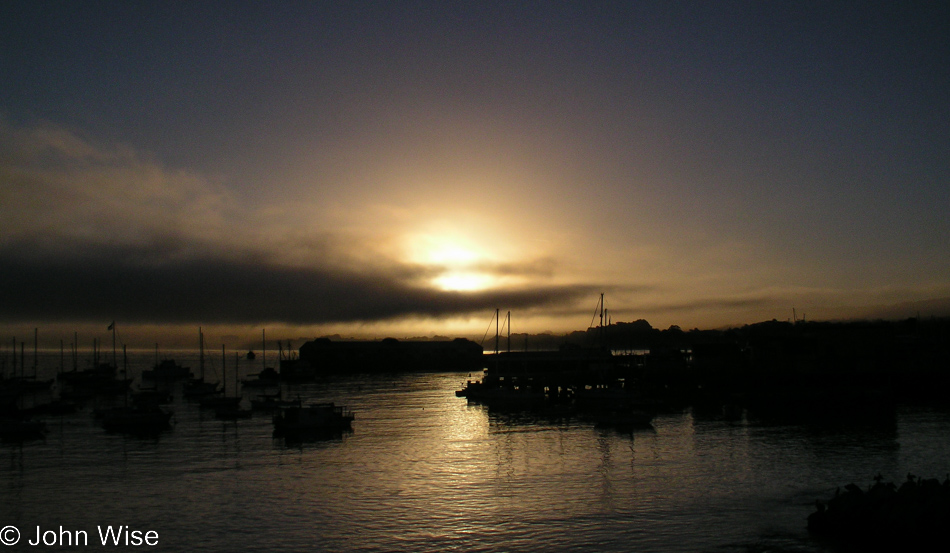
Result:
[[[0,318],[112,320],[141,323],[320,324],[449,317],[497,306],[557,307],[595,293],[590,286],[450,292],[383,271],[282,266],[228,252],[167,261],[147,248],[86,246],[36,252],[27,243],[0,249]]]

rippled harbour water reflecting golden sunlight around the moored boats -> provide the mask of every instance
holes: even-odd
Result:
[[[133,356],[132,374],[152,359]],[[107,434],[88,410],[50,417],[45,441],[0,445],[0,526],[23,534],[11,551],[37,525],[85,530],[94,549],[97,526],[125,525],[164,551],[815,552],[831,550],[805,530],[815,499],[950,470],[942,411],[829,426],[688,409],[620,433],[469,405],[454,395],[468,378],[291,388],[357,417],[302,444],[275,439],[266,414],[223,422],[180,394],[157,438]]]

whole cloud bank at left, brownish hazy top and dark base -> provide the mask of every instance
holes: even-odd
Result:
[[[0,121],[0,318],[323,324],[567,307],[596,291],[451,292],[439,269],[374,255],[366,238],[252,210],[221,183],[52,125]],[[305,208],[300,208],[305,212]],[[551,260],[495,264],[545,278]]]

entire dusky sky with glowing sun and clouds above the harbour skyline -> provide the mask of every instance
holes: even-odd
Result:
[[[7,334],[950,314],[945,2],[2,0],[0,75]]]

